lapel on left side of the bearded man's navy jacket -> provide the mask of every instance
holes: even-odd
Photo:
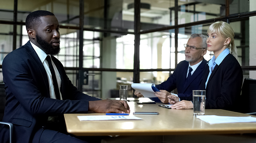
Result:
[[[30,41],[28,41],[24,46],[26,48],[26,51],[28,52],[28,55],[36,63],[33,66],[33,68],[34,70],[36,70],[37,74],[41,73],[41,77],[44,83],[44,84],[42,83],[41,86],[46,86],[45,89],[47,89],[47,91],[45,91],[46,92],[45,95],[48,95],[48,97],[50,98],[49,81],[48,81],[47,73],[46,73],[46,70],[44,69],[43,63],[40,61],[40,58],[38,57],[32,45],[30,44]]]

